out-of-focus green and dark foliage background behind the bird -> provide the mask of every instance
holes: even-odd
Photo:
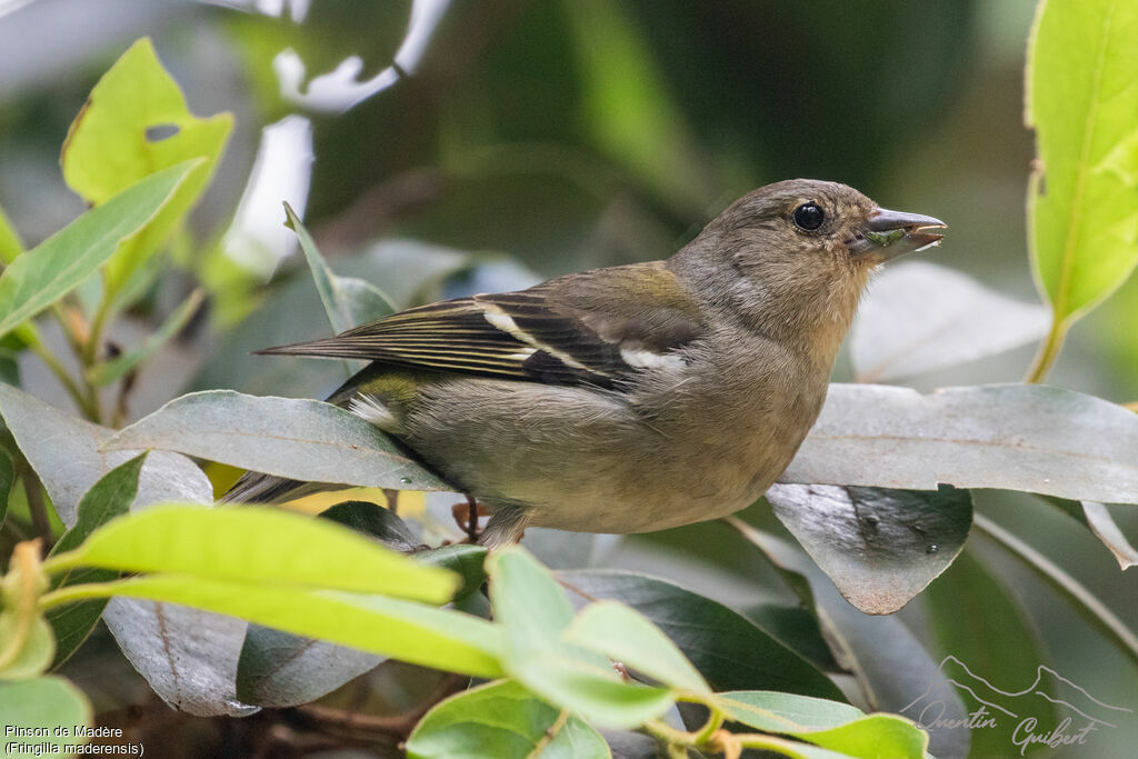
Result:
[[[337,272],[366,278],[406,306],[666,257],[760,184],[830,179],[887,207],[943,218],[945,246],[922,255],[1037,302],[1024,240],[1033,145],[1022,117],[1033,7],[0,0],[0,207],[28,245],[82,211],[59,175],[59,146],[99,75],[139,36],[152,38],[195,114],[234,114],[216,179],[175,245],[175,269],[116,324],[114,338],[135,344],[199,279],[206,283],[207,307],[145,368],[129,419],[191,389],[303,397],[340,381],[336,362],[248,355],[328,329],[281,226],[281,200],[303,209]],[[1138,401],[1136,313],[1131,278],[1074,328],[1049,381]],[[1019,381],[1033,350],[913,385]],[[24,387],[68,405],[34,358],[20,370]],[[840,360],[835,380],[850,377]],[[976,500],[1138,625],[1138,584],[1092,536],[1030,496]],[[1115,517],[1138,526],[1128,513]],[[769,567],[719,525],[638,536],[620,548],[591,543],[586,558],[597,552],[735,604],[770,600],[761,596]],[[1050,663],[1104,700],[1138,704],[1133,667],[1033,576],[1004,563],[1000,579],[1029,610],[1047,659],[992,661],[984,674],[1024,686],[1036,665]],[[922,596],[900,619],[934,658],[953,652],[924,607]],[[1000,635],[984,609],[958,611],[976,636]],[[85,660],[98,652],[89,646]],[[76,679],[89,685],[98,679],[91,671]],[[142,692],[129,690],[105,685],[102,695],[129,703]],[[1098,736],[1096,756],[1132,750],[1138,735],[1123,733]]]

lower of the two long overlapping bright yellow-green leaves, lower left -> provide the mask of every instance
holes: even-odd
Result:
[[[44,603],[53,605],[110,596],[193,607],[464,675],[498,677],[503,674],[498,661],[504,643],[494,625],[457,611],[379,595],[228,581],[205,576],[148,575],[115,583],[76,585],[57,595],[46,595]]]

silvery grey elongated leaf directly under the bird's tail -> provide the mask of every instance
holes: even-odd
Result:
[[[304,481],[454,489],[373,424],[320,401],[191,393],[121,430],[104,448],[178,451]]]

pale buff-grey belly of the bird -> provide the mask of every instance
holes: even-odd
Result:
[[[522,508],[530,525],[572,531],[646,533],[739,511],[782,473],[809,427],[787,428],[781,409],[645,421],[595,393],[535,386],[519,403],[519,388],[509,390],[509,407],[480,397],[446,430],[412,419],[407,442],[492,512]]]

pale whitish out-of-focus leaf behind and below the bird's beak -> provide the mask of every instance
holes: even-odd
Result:
[[[913,261],[874,278],[850,330],[850,361],[858,382],[912,377],[1025,345],[1047,324],[1045,306]]]

